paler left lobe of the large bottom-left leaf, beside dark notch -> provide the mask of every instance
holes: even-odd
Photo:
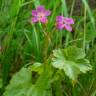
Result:
[[[31,85],[31,71],[22,68],[13,76],[3,96],[26,96]]]

